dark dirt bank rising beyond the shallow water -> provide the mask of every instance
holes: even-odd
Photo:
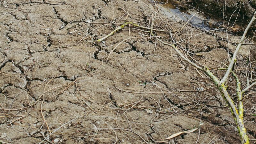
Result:
[[[178,0],[181,9],[197,9],[209,18],[224,23],[236,21],[241,27],[246,27],[256,8],[255,0]]]

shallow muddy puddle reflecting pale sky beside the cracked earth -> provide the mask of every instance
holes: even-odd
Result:
[[[161,8],[162,12],[167,15],[168,17],[173,18],[174,20],[182,20],[184,22],[187,22],[189,20],[189,23],[192,26],[195,26],[200,29],[204,30],[211,30],[212,29],[212,22],[205,18],[204,16],[200,14],[196,14],[194,17],[193,15],[196,13],[194,10],[180,10],[177,5],[178,2],[175,0],[169,0],[167,4],[164,4],[165,1],[161,0],[158,3],[158,7]],[[191,19],[192,18],[192,19]],[[190,20],[191,19],[191,20]]]

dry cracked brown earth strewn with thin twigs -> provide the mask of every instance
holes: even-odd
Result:
[[[94,40],[125,21],[150,28],[154,11],[146,0],[1,0],[0,143],[240,143],[214,84],[171,47],[153,38],[129,39],[106,62],[119,42],[148,37],[148,32],[130,26],[103,42]],[[165,20],[158,16],[155,28],[162,28]],[[172,30],[183,26],[168,23]],[[187,26],[178,35],[184,39],[198,33]],[[178,45],[222,76],[217,68],[228,62],[227,48],[232,54],[239,39],[209,32]],[[243,46],[238,56],[243,88],[246,76],[239,70],[246,68],[255,48]],[[235,93],[235,81],[229,81],[229,92]],[[255,96],[244,98],[251,139]],[[200,131],[165,140],[200,123]]]

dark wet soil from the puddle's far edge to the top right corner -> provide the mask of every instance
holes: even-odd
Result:
[[[166,0],[161,0],[161,2],[165,3]],[[169,0],[168,2],[184,13],[204,13],[200,16],[204,23],[210,26],[232,26],[230,31],[234,32],[246,28],[256,8],[255,0]],[[255,29],[255,26],[252,28]]]

